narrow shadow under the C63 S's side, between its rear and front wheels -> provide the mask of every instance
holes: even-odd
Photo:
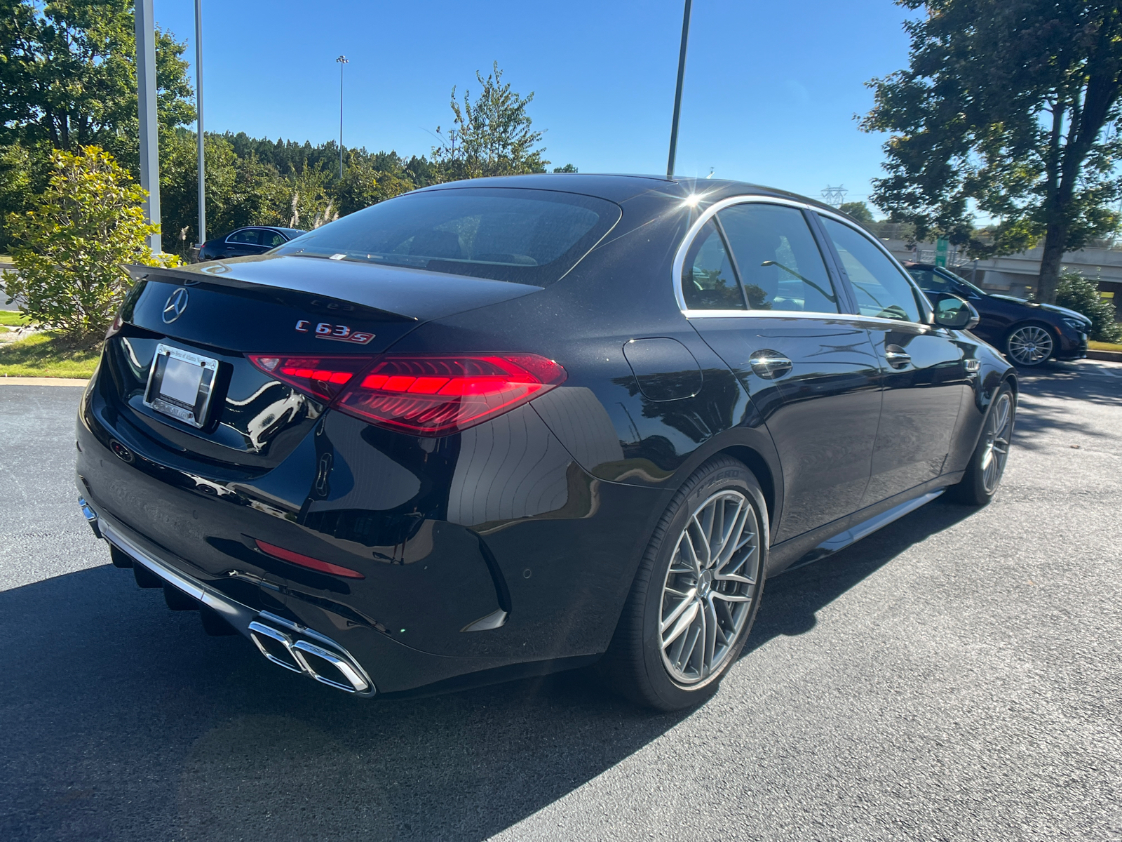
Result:
[[[769,579],[756,624],[741,657],[773,638],[810,631],[817,625],[819,610],[912,544],[949,529],[976,511],[936,500],[833,556]]]

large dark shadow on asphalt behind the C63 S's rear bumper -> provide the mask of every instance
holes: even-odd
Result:
[[[482,840],[675,725],[569,672],[357,699],[104,566],[0,593],[0,838]]]

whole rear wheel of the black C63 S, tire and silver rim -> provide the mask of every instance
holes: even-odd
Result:
[[[679,489],[600,663],[620,693],[673,711],[716,692],[760,606],[766,511],[755,477],[727,457],[703,465]]]

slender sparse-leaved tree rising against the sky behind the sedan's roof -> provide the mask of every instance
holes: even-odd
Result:
[[[465,91],[462,103],[458,102],[452,88],[454,128],[441,146],[432,149],[444,180],[544,173],[550,162],[542,157],[544,147],[535,148],[544,132],[532,130],[533,120],[526,113],[533,92],[522,97],[511,90],[509,82],[503,84],[498,62],[486,79],[476,71],[476,79],[482,90],[473,102],[470,91]],[[439,126],[436,134],[443,138]]]

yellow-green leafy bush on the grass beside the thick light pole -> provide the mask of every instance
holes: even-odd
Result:
[[[145,222],[146,193],[108,152],[55,150],[50,163],[46,192],[31,210],[8,217],[16,273],[6,276],[6,292],[33,322],[88,340],[104,332],[128,292],[126,264],[180,259],[145,244],[158,230]]]

